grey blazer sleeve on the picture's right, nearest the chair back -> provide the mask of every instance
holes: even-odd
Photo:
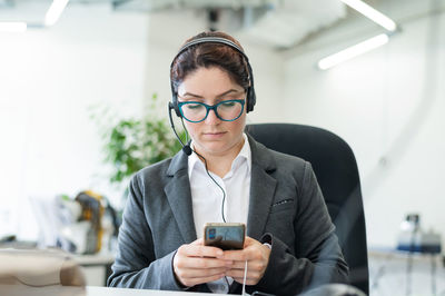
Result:
[[[269,264],[250,290],[296,295],[323,284],[348,283],[348,267],[309,162],[301,184],[294,221],[296,244],[287,246],[271,234],[263,236],[263,243],[271,243]]]

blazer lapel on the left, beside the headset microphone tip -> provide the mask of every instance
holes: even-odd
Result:
[[[186,244],[196,240],[194,211],[191,205],[190,181],[188,178],[187,156],[179,151],[167,170],[169,182],[164,188],[179,231]]]

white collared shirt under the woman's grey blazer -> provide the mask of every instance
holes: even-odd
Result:
[[[226,193],[224,215],[227,223],[244,223],[247,225],[250,196],[251,151],[246,134],[243,134],[244,145],[238,156],[231,162],[229,172],[220,178],[209,171],[210,176]],[[191,144],[192,145],[192,144]],[[194,146],[191,146],[194,147]],[[204,237],[206,223],[222,223],[222,190],[206,172],[206,166],[196,154],[188,157],[188,177],[190,179],[191,200],[195,229],[198,238]],[[230,278],[230,283],[233,279]],[[215,293],[228,293],[225,279],[208,283]]]

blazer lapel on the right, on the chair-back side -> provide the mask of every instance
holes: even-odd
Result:
[[[251,150],[251,180],[247,235],[259,239],[264,234],[277,186],[277,180],[270,176],[276,165],[265,146],[250,136],[248,138]]]

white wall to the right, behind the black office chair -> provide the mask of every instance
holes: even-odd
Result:
[[[320,58],[382,30],[355,18],[283,55],[285,121],[329,129],[352,146],[370,247],[395,246],[407,213],[419,213],[423,227],[445,241],[445,14],[423,17],[416,10],[428,4],[380,3],[400,21],[402,32],[328,71],[315,68]]]

